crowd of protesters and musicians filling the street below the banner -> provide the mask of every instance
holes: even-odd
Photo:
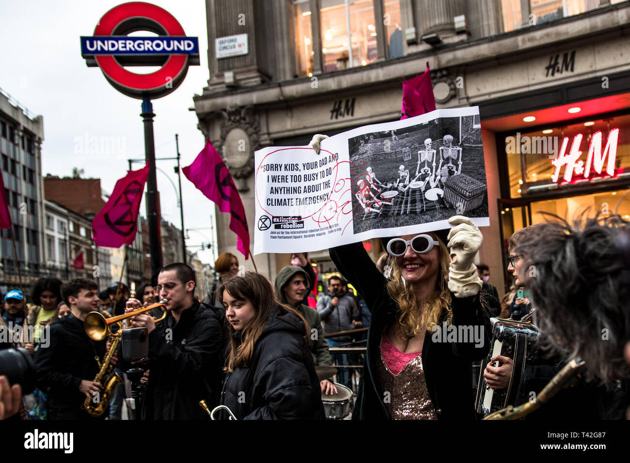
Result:
[[[128,413],[143,420],[208,419],[217,407],[217,419],[324,419],[326,396],[357,386],[352,419],[472,421],[484,416],[471,395],[473,365],[485,365],[478,375],[488,390],[535,396],[572,358],[585,362],[585,374],[527,419],[625,418],[630,224],[616,215],[576,224],[552,217],[518,230],[506,263],[513,285],[502,299],[488,266],[474,263],[481,231],[461,215],[449,224],[382,238],[376,263],[362,243],[329,249],[341,276],[318,295],[306,253],[293,254],[273,282],[221,254],[203,300],[184,263],[164,266],[134,295],[121,282],[100,292],[92,280],[41,278],[27,306],[11,289],[0,324],[28,329],[0,349],[19,345],[33,357],[37,389],[21,397],[0,377],[0,418],[120,420],[130,386],[139,387],[125,372],[141,365],[142,400],[139,409],[129,401]],[[147,306],[156,307],[139,311]],[[88,336],[90,312],[133,312],[127,328],[144,330],[147,358],[122,358],[111,333]],[[540,330],[524,363],[493,351],[501,321]],[[336,350],[349,345],[364,354]],[[106,358],[109,379],[100,377]],[[345,367],[360,361],[355,385]],[[93,413],[100,401],[105,413]]]

